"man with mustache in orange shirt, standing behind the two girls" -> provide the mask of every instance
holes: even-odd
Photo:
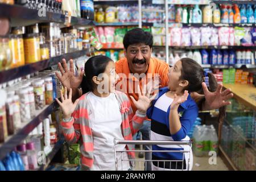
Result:
[[[152,45],[153,45],[153,37],[150,32],[143,31],[142,28],[134,28],[126,33],[123,38],[123,46],[125,51],[125,57],[120,59],[115,63],[115,69],[117,74],[122,73],[123,76],[121,80],[117,83],[116,89],[121,89],[122,92],[125,92],[129,98],[133,96],[135,100],[138,100],[138,92],[134,86],[134,83],[139,82],[140,86],[142,86],[143,75],[144,77],[152,77],[159,76],[159,86],[167,86],[168,83],[168,68],[169,65],[162,60],[156,59],[155,57],[151,57],[152,53]],[[168,56],[168,55],[167,55]],[[64,67],[64,69],[63,69]],[[72,88],[74,91],[73,96],[79,97],[81,96],[81,90],[77,89],[82,81],[82,77],[84,72],[81,72],[79,77],[75,77],[73,70],[73,61],[71,60],[71,68],[70,72],[67,68],[67,63],[65,60],[63,61],[63,67],[59,63],[59,69],[61,71],[61,75],[57,74],[57,77],[60,79],[62,84],[66,86],[68,89]],[[222,85],[218,85],[219,88]],[[154,87],[154,86],[153,86]],[[123,90],[123,88],[125,88]],[[225,90],[225,92],[209,92],[205,83],[203,83],[204,95],[193,94],[193,99],[198,101],[201,98],[205,97],[205,102],[199,105],[202,110],[211,110],[218,109],[222,106],[229,105],[230,102],[226,101],[233,97],[230,89]],[[141,87],[142,90],[142,87]],[[220,89],[221,90],[221,89]],[[144,91],[144,93],[146,93]],[[133,111],[137,110],[134,106],[133,102],[131,102],[131,106]],[[143,123],[141,128],[142,138],[144,140],[150,139],[150,121],[146,120]],[[146,146],[146,150],[150,150],[151,146]],[[145,155],[146,160],[151,159],[151,154],[146,152]],[[151,170],[151,162],[148,162],[146,165],[146,170]]]

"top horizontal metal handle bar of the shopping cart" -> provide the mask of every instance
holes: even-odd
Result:
[[[191,145],[191,140],[184,141],[165,141],[165,140],[117,140],[114,139],[114,144],[176,144],[176,145]]]

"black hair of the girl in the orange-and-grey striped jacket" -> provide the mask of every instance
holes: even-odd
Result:
[[[113,61],[107,56],[93,56],[86,61],[84,65],[85,76],[82,78],[81,88],[82,94],[91,92],[94,89],[92,78],[105,72],[106,66],[110,61]]]

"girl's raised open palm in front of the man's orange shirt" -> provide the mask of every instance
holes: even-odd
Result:
[[[139,85],[138,85],[138,95],[139,95],[138,101],[136,101],[133,96],[130,96],[134,105],[142,113],[147,112],[148,107],[150,107],[150,105],[151,105],[151,101],[154,100],[154,98],[156,97],[156,94],[154,94],[154,96],[150,97],[151,90],[152,90],[152,87],[150,89],[148,89],[147,93],[146,93],[146,85],[144,85],[143,92],[141,93],[141,89],[139,88]]]

